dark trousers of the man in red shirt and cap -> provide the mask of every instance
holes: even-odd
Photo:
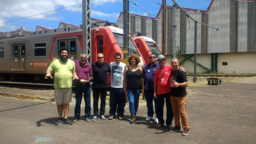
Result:
[[[165,103],[166,103],[166,122],[163,118]],[[172,124],[173,109],[172,109],[172,105],[170,104],[170,93],[157,95],[157,118],[158,118],[159,124],[164,125],[166,123],[167,126]]]

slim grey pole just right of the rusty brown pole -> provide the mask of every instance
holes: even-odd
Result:
[[[176,0],[174,0],[176,1]],[[172,26],[173,26],[173,33],[172,33],[172,54],[173,58],[176,57],[176,4],[173,4],[173,13],[172,13]]]

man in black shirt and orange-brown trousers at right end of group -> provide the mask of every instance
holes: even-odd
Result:
[[[186,72],[182,72],[179,68],[178,58],[173,58],[170,62],[173,67],[170,74],[171,77],[171,90],[170,90],[170,102],[173,108],[173,118],[175,126],[170,129],[170,132],[177,132],[181,129],[181,124],[184,128],[182,135],[189,134],[189,121],[187,119],[186,104],[187,104],[187,75]],[[181,123],[180,123],[181,119]]]

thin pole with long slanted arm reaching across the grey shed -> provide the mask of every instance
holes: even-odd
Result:
[[[174,4],[176,4],[176,6],[178,6],[186,15],[188,18],[191,18],[193,21],[195,21],[195,45],[194,45],[194,77],[193,77],[193,82],[197,82],[197,23],[204,25],[204,26],[208,26],[209,28],[212,29],[216,29],[217,31],[219,30],[218,28],[215,28],[214,26],[209,26],[205,23],[200,23],[197,20],[195,20],[194,18],[192,18],[187,12],[185,12],[177,3],[176,0],[172,0]]]

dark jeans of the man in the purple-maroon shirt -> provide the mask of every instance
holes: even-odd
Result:
[[[77,84],[75,86],[75,118],[80,118],[80,105],[82,102],[82,97],[85,102],[84,113],[85,117],[90,117],[91,115],[91,88],[90,84],[85,86]]]

